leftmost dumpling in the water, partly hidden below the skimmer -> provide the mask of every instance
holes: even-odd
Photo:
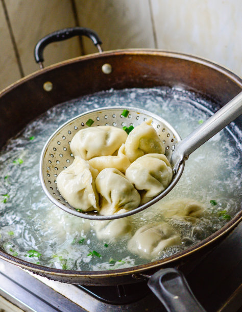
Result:
[[[131,230],[130,218],[120,218],[115,220],[94,221],[93,226],[96,237],[99,240],[115,241],[119,237],[123,237]]]

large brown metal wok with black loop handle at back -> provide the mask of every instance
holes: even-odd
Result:
[[[242,91],[242,80],[236,74],[205,59],[156,49],[114,50],[103,53],[98,36],[89,30],[84,29],[83,33],[83,29],[79,29],[81,34],[93,40],[100,52],[40,69],[4,89],[0,93],[0,147],[28,122],[54,105],[101,90],[176,86],[211,99],[215,103],[214,111]],[[62,30],[46,36],[47,40],[41,39],[35,50],[36,61],[42,65],[43,48],[46,44],[80,34],[77,28],[74,30]],[[103,67],[104,64],[108,65]],[[235,123],[241,127],[241,118],[237,118]],[[183,252],[126,269],[84,272],[47,268],[18,259],[1,249],[0,258],[38,275],[62,282],[83,285],[128,284],[143,280],[141,274],[148,276],[159,269],[179,267],[184,262],[196,261],[223,240],[241,218],[242,212],[213,235]],[[169,271],[168,274],[171,278],[180,278],[176,272]],[[193,299],[189,300],[191,303]]]

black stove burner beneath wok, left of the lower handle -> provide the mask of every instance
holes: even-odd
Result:
[[[128,304],[136,302],[151,293],[147,281],[118,286],[82,286],[82,290],[109,304]]]

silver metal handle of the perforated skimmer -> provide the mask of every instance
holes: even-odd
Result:
[[[180,164],[187,160],[189,155],[207,142],[211,137],[220,132],[230,122],[242,114],[242,92],[229,101],[222,109],[209,117],[195,131],[180,141],[172,154],[171,165],[174,173]]]

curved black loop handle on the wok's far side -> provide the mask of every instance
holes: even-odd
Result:
[[[39,64],[40,68],[43,68],[43,61],[44,61],[43,51],[46,45],[52,42],[66,40],[75,36],[86,36],[90,38],[93,44],[99,49],[100,52],[102,52],[102,48],[100,46],[102,44],[102,41],[100,40],[98,34],[93,32],[89,28],[70,27],[70,28],[61,29],[49,35],[46,35],[37,42],[35,49],[34,49],[34,57],[35,57],[36,63]]]

